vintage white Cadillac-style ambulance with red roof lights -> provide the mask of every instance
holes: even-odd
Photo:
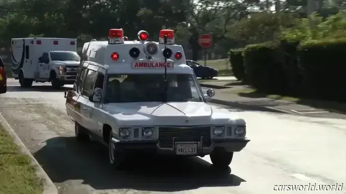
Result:
[[[144,151],[210,155],[227,167],[250,141],[245,121],[206,103],[215,92],[203,94],[173,30],[161,30],[159,42],[145,31],[138,38],[125,41],[123,30],[111,29],[108,41],[87,43],[75,88],[65,92],[77,140],[91,135],[107,145],[115,167]]]

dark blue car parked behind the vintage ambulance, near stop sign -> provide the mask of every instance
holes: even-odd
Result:
[[[218,75],[218,70],[211,66],[203,66],[191,60],[186,60],[186,65],[189,65],[193,69],[196,77],[201,77],[202,79],[212,79]]]

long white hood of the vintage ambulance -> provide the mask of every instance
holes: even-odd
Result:
[[[109,103],[103,111],[119,126],[245,125],[234,113],[204,102]]]

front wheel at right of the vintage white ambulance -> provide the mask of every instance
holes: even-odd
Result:
[[[233,152],[226,152],[224,149],[215,149],[210,155],[210,160],[217,168],[226,168],[232,162]]]

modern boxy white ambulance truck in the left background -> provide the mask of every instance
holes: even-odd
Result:
[[[51,82],[55,88],[76,81],[80,57],[75,38],[12,38],[12,74],[22,87]]]

